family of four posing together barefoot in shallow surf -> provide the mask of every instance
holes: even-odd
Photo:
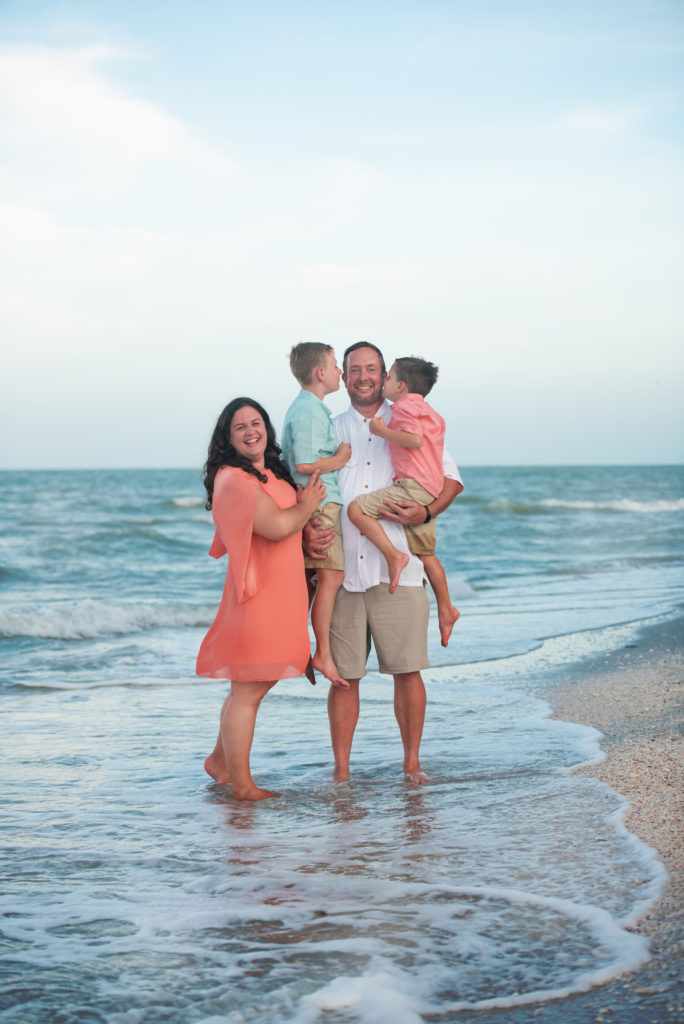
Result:
[[[315,342],[295,345],[290,367],[301,391],[287,412],[282,447],[266,411],[246,397],[226,406],[209,443],[210,554],[227,553],[228,566],[197,672],[229,679],[230,692],[205,768],[230,782],[239,800],[275,796],[250,770],[257,712],[279,679],[306,674],[314,682],[316,669],[332,683],[334,778],[348,778],[372,638],[380,672],[394,677],[403,771],[420,783],[427,778],[419,760],[426,574],[443,646],[459,617],[435,555],[434,520],[463,489],[444,451],[444,421],[425,401],[437,368],[409,356],[388,374],[380,349],[366,341],[345,351],[342,370],[332,347]],[[340,378],[350,408],[333,420],[324,398]]]

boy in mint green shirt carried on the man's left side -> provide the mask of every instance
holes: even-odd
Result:
[[[346,685],[331,654],[330,624],[335,597],[344,579],[340,526],[342,495],[337,470],[349,461],[351,445],[338,442],[330,410],[323,401],[326,395],[339,390],[342,371],[331,345],[309,341],[292,348],[290,369],[302,390],[285,416],[281,437],[283,458],[295,481],[302,486],[306,485],[311,473],[320,473],[326,485],[326,501],[313,518],[318,520],[317,529],[332,527],[335,530],[335,542],[325,558],[304,557],[307,578],[310,580],[314,571],[318,578],[311,606],[311,626],[316,642],[313,667],[331,682]]]

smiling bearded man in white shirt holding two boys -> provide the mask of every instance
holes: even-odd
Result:
[[[342,380],[351,407],[335,418],[335,427],[339,440],[351,444],[351,459],[339,470],[344,584],[335,602],[331,648],[345,684],[331,686],[328,715],[335,756],[334,778],[341,781],[349,777],[349,756],[359,712],[359,682],[366,673],[370,633],[380,671],[394,678],[394,714],[403,744],[404,775],[419,784],[427,779],[419,759],[426,705],[421,670],[428,667],[429,602],[423,585],[423,565],[415,555],[410,555],[399,585],[390,594],[387,563],[346,514],[347,505],[357,495],[377,490],[392,481],[387,441],[372,434],[369,427],[374,416],[389,421],[391,407],[382,395],[386,376],[385,361],[375,345],[360,341],[344,353]],[[444,485],[429,506],[407,501],[387,507],[383,525],[392,544],[410,554],[403,526],[425,522],[443,512],[461,490],[463,483],[458,469],[445,457]],[[307,550],[314,557],[322,557],[332,543],[331,531],[314,535],[309,525],[304,536]]]

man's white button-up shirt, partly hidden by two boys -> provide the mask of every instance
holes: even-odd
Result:
[[[376,416],[382,416],[389,423],[392,407],[383,401]],[[347,505],[358,495],[369,494],[379,487],[387,487],[392,482],[392,460],[389,444],[382,437],[371,433],[369,419],[351,407],[340,413],[334,420],[340,441],[351,444],[349,462],[338,470],[338,482],[342,492],[343,509],[342,543],[344,546],[344,588],[350,591],[366,591],[379,583],[389,583],[387,562],[383,555],[349,521]],[[444,476],[461,482],[456,463],[444,452]],[[395,548],[409,552],[403,526],[390,519],[378,520]],[[422,587],[425,580],[423,563],[416,555],[411,559],[399,579],[400,587]]]

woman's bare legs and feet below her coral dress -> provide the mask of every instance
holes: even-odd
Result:
[[[220,736],[225,762],[237,800],[266,800],[277,794],[260,790],[250,771],[250,751],[259,705],[272,683],[230,683],[230,693],[221,709]]]

